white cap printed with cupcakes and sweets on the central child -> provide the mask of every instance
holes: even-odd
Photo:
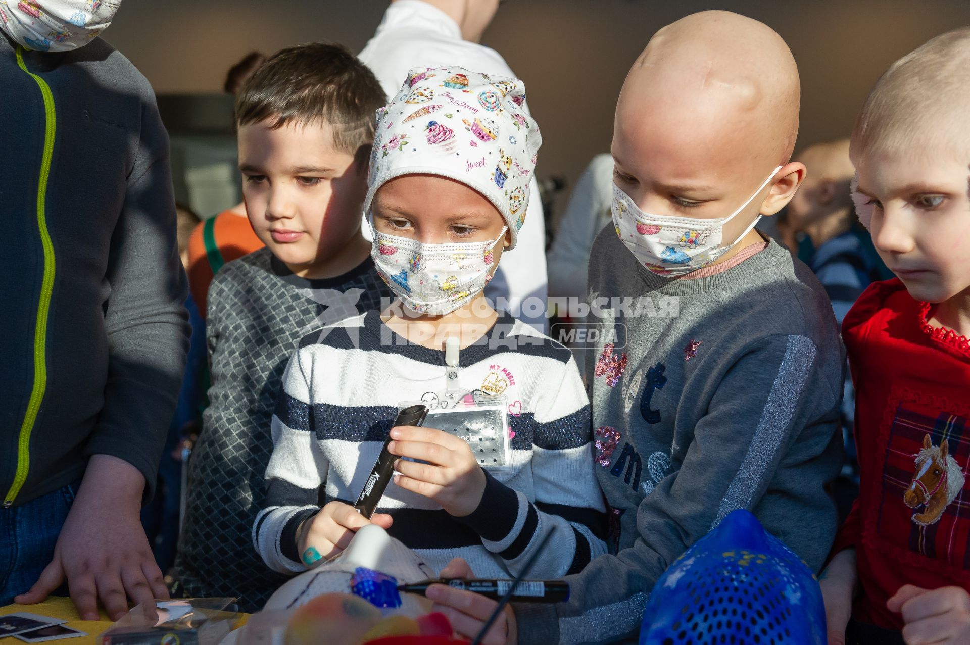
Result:
[[[513,248],[529,206],[529,181],[542,137],[524,109],[526,87],[448,66],[416,67],[377,111],[370,190],[395,177],[449,177],[484,195],[501,212]]]

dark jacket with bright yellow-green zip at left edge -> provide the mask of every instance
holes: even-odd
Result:
[[[0,500],[92,454],[150,496],[188,347],[169,140],[145,77],[101,39],[21,50],[0,33]]]

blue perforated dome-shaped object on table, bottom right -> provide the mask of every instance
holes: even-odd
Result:
[[[663,572],[640,645],[825,645],[822,590],[808,566],[735,510]]]

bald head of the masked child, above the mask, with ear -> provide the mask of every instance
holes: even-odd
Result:
[[[637,179],[644,195],[674,194],[674,210],[725,216],[788,163],[799,94],[792,52],[768,26],[724,11],[681,18],[654,35],[624,81],[612,146],[618,176]],[[776,190],[778,177],[765,194],[788,195]],[[777,208],[753,200],[752,209],[771,214],[787,200]]]

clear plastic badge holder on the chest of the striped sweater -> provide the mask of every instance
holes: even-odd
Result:
[[[468,441],[475,460],[493,474],[513,469],[511,428],[508,408],[502,396],[468,393],[447,407],[429,405],[425,428],[436,428]],[[419,402],[401,403],[402,406]]]

